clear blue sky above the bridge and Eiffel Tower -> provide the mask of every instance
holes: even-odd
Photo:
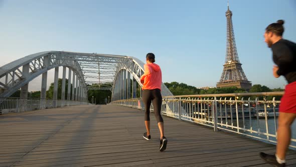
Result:
[[[285,21],[296,41],[296,1],[229,2],[236,47],[252,84],[283,87],[273,78],[266,26]],[[1,1],[0,66],[48,50],[134,56],[156,54],[163,81],[215,87],[226,54],[227,1]],[[40,90],[40,78],[30,89]],[[53,72],[49,82],[53,80]]]

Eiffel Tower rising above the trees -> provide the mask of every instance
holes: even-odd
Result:
[[[251,82],[247,79],[244,71],[242,70],[241,63],[239,62],[233,25],[232,25],[232,12],[229,10],[229,5],[227,5],[228,10],[226,11],[227,18],[227,42],[226,42],[226,58],[225,64],[223,65],[223,72],[220,81],[217,82],[217,88],[225,87],[237,87],[245,90],[251,89]]]

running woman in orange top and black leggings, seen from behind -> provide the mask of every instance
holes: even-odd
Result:
[[[146,55],[146,64],[144,65],[144,74],[141,76],[140,81],[143,84],[142,100],[145,106],[145,127],[146,133],[143,137],[146,140],[151,139],[150,135],[150,106],[153,103],[154,114],[158,122],[158,127],[161,133],[160,151],[167,148],[168,140],[164,135],[164,120],[161,115],[162,108],[162,70],[159,65],[155,64],[155,55],[148,53]]]

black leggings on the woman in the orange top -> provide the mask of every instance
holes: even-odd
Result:
[[[161,90],[143,90],[142,100],[145,106],[145,121],[150,121],[150,106],[152,102],[157,122],[164,122],[163,117],[161,115],[161,108],[163,102]]]

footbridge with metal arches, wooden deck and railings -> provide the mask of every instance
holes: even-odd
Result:
[[[0,166],[268,166],[258,152],[275,151],[283,92],[173,96],[162,84],[169,143],[159,152],[153,116],[153,139],[142,138],[143,64],[129,56],[46,51],[0,67]],[[46,99],[51,69],[53,99]],[[30,99],[28,85],[39,75],[41,98]],[[10,98],[19,89],[20,98]],[[94,89],[111,91],[110,105],[89,105]],[[295,133],[289,148],[287,164],[294,166]]]

